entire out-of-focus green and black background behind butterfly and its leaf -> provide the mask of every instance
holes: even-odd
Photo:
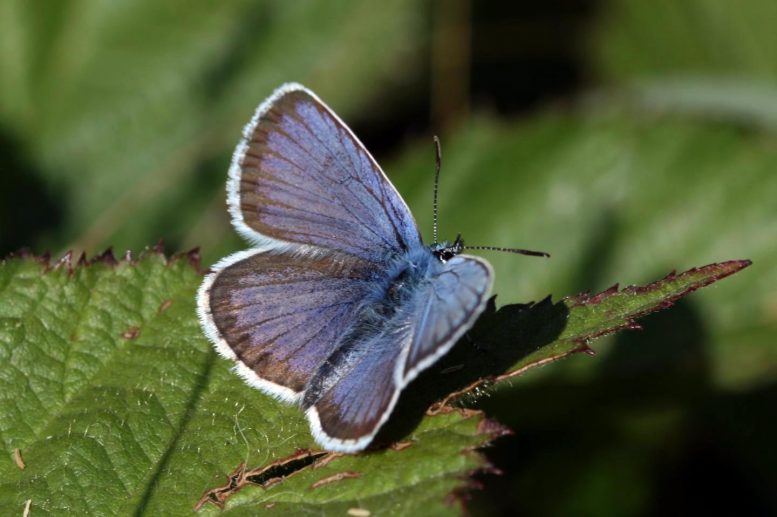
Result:
[[[244,244],[224,180],[276,86],[316,91],[428,237],[489,256],[499,301],[754,265],[599,357],[478,402],[473,513],[777,513],[777,4],[771,0],[0,3],[0,251]],[[665,513],[665,512],[664,512]]]

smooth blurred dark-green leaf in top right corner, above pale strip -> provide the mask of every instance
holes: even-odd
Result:
[[[616,79],[703,74],[777,80],[770,0],[608,0],[594,57]]]

